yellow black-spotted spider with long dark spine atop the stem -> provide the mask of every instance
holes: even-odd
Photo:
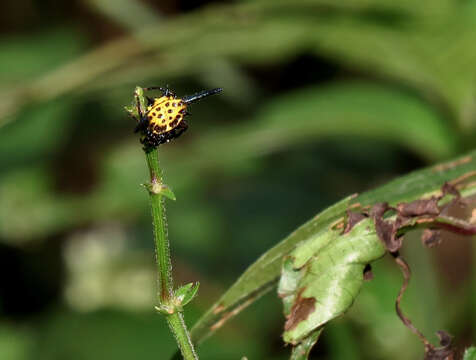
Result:
[[[167,88],[149,87],[144,88],[144,91],[155,89],[161,90],[162,96],[155,99],[147,97],[145,112],[141,111],[137,99],[139,123],[135,132],[141,133],[141,143],[144,144],[146,151],[178,138],[187,130],[188,123],[185,116],[188,115],[187,106],[189,104],[222,91],[221,88],[217,88],[201,91],[183,98],[177,98],[175,93]]]

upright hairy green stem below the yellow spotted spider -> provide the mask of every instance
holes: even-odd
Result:
[[[162,172],[159,168],[157,149],[146,152],[150,172],[150,206],[154,227],[155,252],[158,270],[158,309],[166,317],[175,340],[185,360],[198,360],[190,334],[183,319],[181,309],[176,306],[172,281],[172,263],[170,261],[169,240],[167,237],[167,219],[165,217],[164,188]]]

